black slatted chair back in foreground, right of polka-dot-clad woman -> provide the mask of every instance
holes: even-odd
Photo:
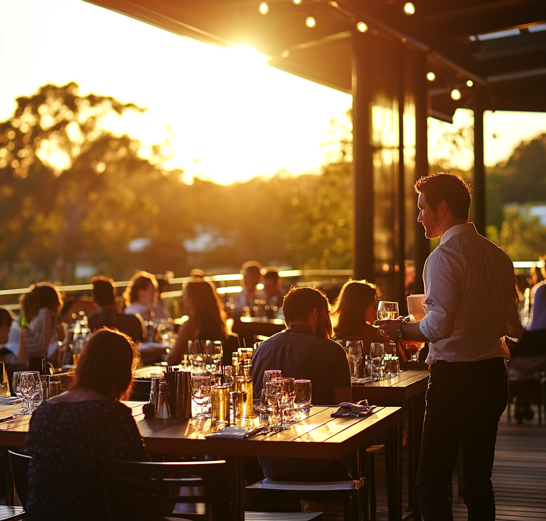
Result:
[[[169,516],[177,503],[205,503],[206,519],[229,521],[224,460],[150,463],[100,458],[110,521]],[[180,495],[198,487],[199,495]]]

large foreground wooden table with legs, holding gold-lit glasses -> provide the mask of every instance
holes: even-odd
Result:
[[[304,420],[277,434],[255,436],[247,440],[205,439],[210,434],[210,420],[157,420],[144,418],[142,402],[125,402],[133,416],[150,453],[218,454],[228,460],[233,476],[233,519],[244,519],[244,482],[242,462],[244,456],[269,456],[288,458],[340,459],[366,447],[379,436],[387,436],[389,453],[389,521],[401,519],[401,487],[399,461],[401,460],[400,425],[402,410],[397,407],[379,407],[367,418],[331,418],[336,408],[313,407]],[[19,405],[2,406],[2,416],[15,412]],[[22,419],[21,419],[22,418]],[[11,446],[24,446],[29,417],[17,417],[0,423],[0,446],[7,456]],[[259,418],[251,423],[258,426]],[[4,466],[4,469],[6,467]],[[9,471],[9,464],[7,467]],[[11,477],[9,476],[9,482]],[[7,482],[8,482],[7,481]],[[7,502],[13,502],[13,484]]]

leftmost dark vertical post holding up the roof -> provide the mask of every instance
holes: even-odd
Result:
[[[373,163],[370,145],[371,63],[367,33],[353,33],[353,277],[373,280]]]

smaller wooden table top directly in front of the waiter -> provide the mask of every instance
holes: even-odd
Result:
[[[406,400],[426,391],[429,383],[427,370],[405,370],[372,384],[353,386],[353,400]],[[370,405],[372,405],[370,403]]]

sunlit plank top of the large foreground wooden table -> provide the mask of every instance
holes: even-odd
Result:
[[[173,454],[223,454],[225,456],[271,456],[339,459],[351,454],[402,421],[398,407],[378,407],[367,418],[331,418],[336,408],[313,407],[305,420],[277,434],[246,440],[209,438],[210,420],[176,422],[144,418],[143,402],[124,402],[144,439],[148,452]],[[0,408],[0,417],[19,410],[19,405]],[[16,416],[0,423],[0,446],[24,446],[30,416]],[[259,418],[250,421],[259,426]]]

